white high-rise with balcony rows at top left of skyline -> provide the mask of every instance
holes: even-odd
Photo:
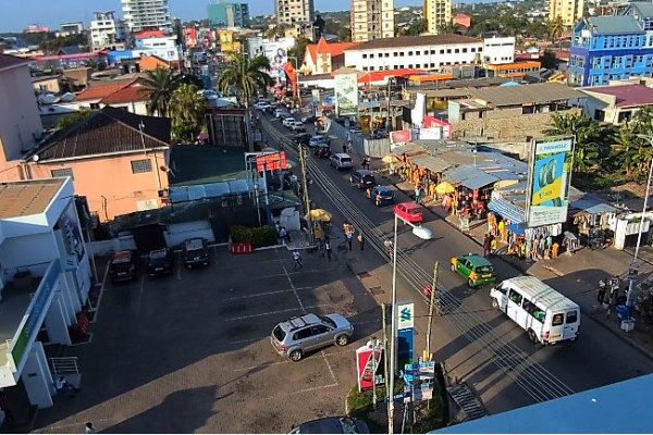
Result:
[[[172,32],[168,0],[121,0],[121,3],[123,20],[131,32]]]

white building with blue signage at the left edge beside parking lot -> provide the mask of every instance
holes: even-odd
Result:
[[[1,183],[0,204],[0,387],[27,397],[15,406],[48,408],[57,391],[44,345],[72,344],[90,288],[73,181]]]

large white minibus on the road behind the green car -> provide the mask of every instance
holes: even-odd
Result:
[[[580,327],[580,308],[534,276],[518,276],[490,290],[492,307],[505,312],[533,343],[574,341]]]

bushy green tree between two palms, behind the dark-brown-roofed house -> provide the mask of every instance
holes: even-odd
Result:
[[[181,85],[172,92],[170,117],[173,136],[184,142],[193,142],[204,125],[205,100],[197,95],[197,87]]]

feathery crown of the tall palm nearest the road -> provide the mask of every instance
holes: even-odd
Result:
[[[222,94],[235,90],[238,102],[247,105],[257,90],[264,90],[272,84],[268,71],[270,61],[263,55],[247,59],[241,53],[230,53],[229,64],[218,78],[218,90]]]

